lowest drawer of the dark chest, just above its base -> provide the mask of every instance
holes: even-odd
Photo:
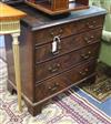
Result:
[[[36,85],[36,102],[47,99],[50,95],[67,89],[78,81],[89,76],[95,70],[95,61],[83,63],[77,68],[71,69],[58,76],[49,79]]]

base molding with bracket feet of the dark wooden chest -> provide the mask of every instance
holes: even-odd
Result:
[[[85,78],[74,84],[72,84],[71,86],[69,86],[68,89],[74,86],[75,84],[79,84],[81,82],[89,82],[89,80],[93,83],[95,81],[95,73],[91,74],[89,78]],[[13,93],[17,93],[17,87],[16,85],[10,81],[8,80],[8,84],[7,84],[7,87],[8,87],[8,91],[13,94]],[[68,89],[63,90],[63,91],[60,91],[58,94],[67,91]],[[58,94],[54,94],[53,96],[58,95]],[[47,97],[40,102],[37,102],[37,103],[32,103],[23,93],[22,93],[22,99],[26,103],[26,105],[28,106],[28,112],[32,115],[32,116],[36,116],[38,114],[41,113],[41,110],[47,105],[47,103],[53,97]]]

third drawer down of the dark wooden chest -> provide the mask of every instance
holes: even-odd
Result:
[[[98,58],[99,48],[100,44],[95,43],[91,46],[87,46],[78,51],[70,52],[54,60],[37,64],[36,81],[39,82],[41,80],[51,78],[58,73],[63,72],[64,70],[68,70],[69,68],[81,61]]]

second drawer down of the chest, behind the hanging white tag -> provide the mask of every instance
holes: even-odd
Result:
[[[89,45],[100,41],[102,29],[92,30],[82,34],[68,37],[57,42],[57,51],[52,52],[52,42],[36,48],[36,61],[43,62],[58,55],[68,53],[72,50]]]

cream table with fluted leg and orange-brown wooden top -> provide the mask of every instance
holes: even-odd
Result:
[[[20,35],[20,19],[26,16],[24,12],[19,11],[12,7],[9,7],[0,2],[0,34],[11,34],[13,60],[14,60],[14,73],[16,73],[16,85],[18,93],[18,107],[19,112],[22,111],[21,105],[21,76],[20,76],[20,54],[19,54],[19,41]]]

